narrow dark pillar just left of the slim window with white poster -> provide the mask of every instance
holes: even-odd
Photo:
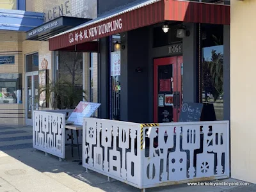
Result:
[[[108,37],[99,40],[99,67],[98,67],[98,99],[100,118],[109,118],[109,63],[108,63]]]

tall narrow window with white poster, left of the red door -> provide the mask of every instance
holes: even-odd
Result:
[[[121,54],[120,50],[115,49],[116,42],[120,42],[120,35],[112,36],[111,40],[111,57],[110,57],[110,74],[111,74],[111,118],[120,120],[120,72],[121,72]]]

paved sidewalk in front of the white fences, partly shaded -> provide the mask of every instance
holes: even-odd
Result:
[[[53,156],[32,148],[32,127],[0,125],[0,192],[74,192],[74,191],[140,191],[132,186],[113,180],[99,173],[86,173],[83,166],[73,163],[70,157],[60,162]],[[70,154],[70,150],[67,151]],[[76,156],[76,150],[74,151]],[[234,179],[220,182],[237,182]],[[241,182],[241,181],[239,181]],[[170,192],[249,192],[249,186],[188,186],[180,184],[151,188],[146,191]]]

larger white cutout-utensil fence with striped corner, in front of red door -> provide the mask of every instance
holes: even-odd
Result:
[[[84,118],[83,166],[140,189],[228,178],[229,123]]]

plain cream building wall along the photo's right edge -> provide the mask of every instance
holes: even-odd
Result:
[[[231,1],[230,11],[230,136],[231,176],[256,183],[255,40],[256,1]],[[254,17],[255,16],[255,17]]]

